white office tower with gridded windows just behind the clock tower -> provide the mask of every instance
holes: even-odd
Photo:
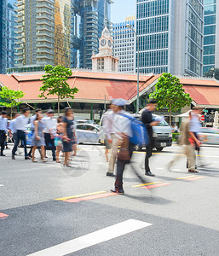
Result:
[[[118,57],[118,72],[135,73],[135,16],[127,17],[124,22],[113,24],[113,53]]]

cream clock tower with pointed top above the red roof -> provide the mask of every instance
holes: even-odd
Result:
[[[112,55],[112,37],[105,26],[99,39],[99,53],[92,55],[92,70],[102,72],[118,72],[118,58]]]

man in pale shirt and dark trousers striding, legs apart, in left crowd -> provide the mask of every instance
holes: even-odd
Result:
[[[26,150],[26,125],[28,124],[28,115],[30,114],[30,110],[28,108],[25,108],[23,110],[23,114],[21,114],[19,117],[16,118],[14,121],[14,129],[17,131],[17,138],[14,143],[14,148],[12,149],[12,159],[15,160],[15,153],[18,148],[18,144],[21,142],[24,145],[25,149],[25,160],[31,159]]]

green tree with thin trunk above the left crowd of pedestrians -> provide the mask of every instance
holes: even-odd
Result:
[[[72,70],[63,66],[53,67],[46,65],[44,67],[45,75],[43,75],[43,86],[39,90],[42,93],[39,97],[47,99],[49,95],[56,95],[58,98],[58,114],[60,114],[60,100],[64,98],[74,98],[74,94],[78,92],[78,88],[71,88],[66,82],[72,76]]]

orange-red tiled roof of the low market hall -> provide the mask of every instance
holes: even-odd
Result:
[[[147,87],[155,84],[160,75],[140,76],[140,93],[147,92]],[[33,75],[0,75],[0,83],[13,90],[25,92],[23,98],[26,102],[42,100],[38,98],[39,88],[42,86],[42,74]],[[71,87],[77,87],[75,100],[78,102],[104,102],[112,98],[124,98],[132,102],[136,96],[136,75],[120,73],[92,73],[73,71],[68,79]],[[180,79],[184,89],[199,105],[219,106],[219,83],[212,79]],[[56,99],[56,96],[48,96]]]

